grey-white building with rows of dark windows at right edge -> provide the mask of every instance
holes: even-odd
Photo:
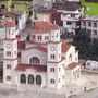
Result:
[[[81,28],[86,28],[91,39],[98,38],[98,16],[86,16],[82,19]]]

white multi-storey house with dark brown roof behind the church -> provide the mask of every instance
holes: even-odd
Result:
[[[79,19],[84,15],[84,7],[78,2],[54,3],[57,12],[61,13],[61,25],[68,33],[75,34],[81,26]]]

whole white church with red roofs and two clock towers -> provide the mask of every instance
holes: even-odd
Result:
[[[72,84],[81,77],[78,51],[74,46],[60,40],[58,25],[36,22],[28,28],[29,41],[24,41],[25,47],[15,38],[15,25],[7,25],[5,29],[4,84],[59,89],[66,85],[66,79]]]

